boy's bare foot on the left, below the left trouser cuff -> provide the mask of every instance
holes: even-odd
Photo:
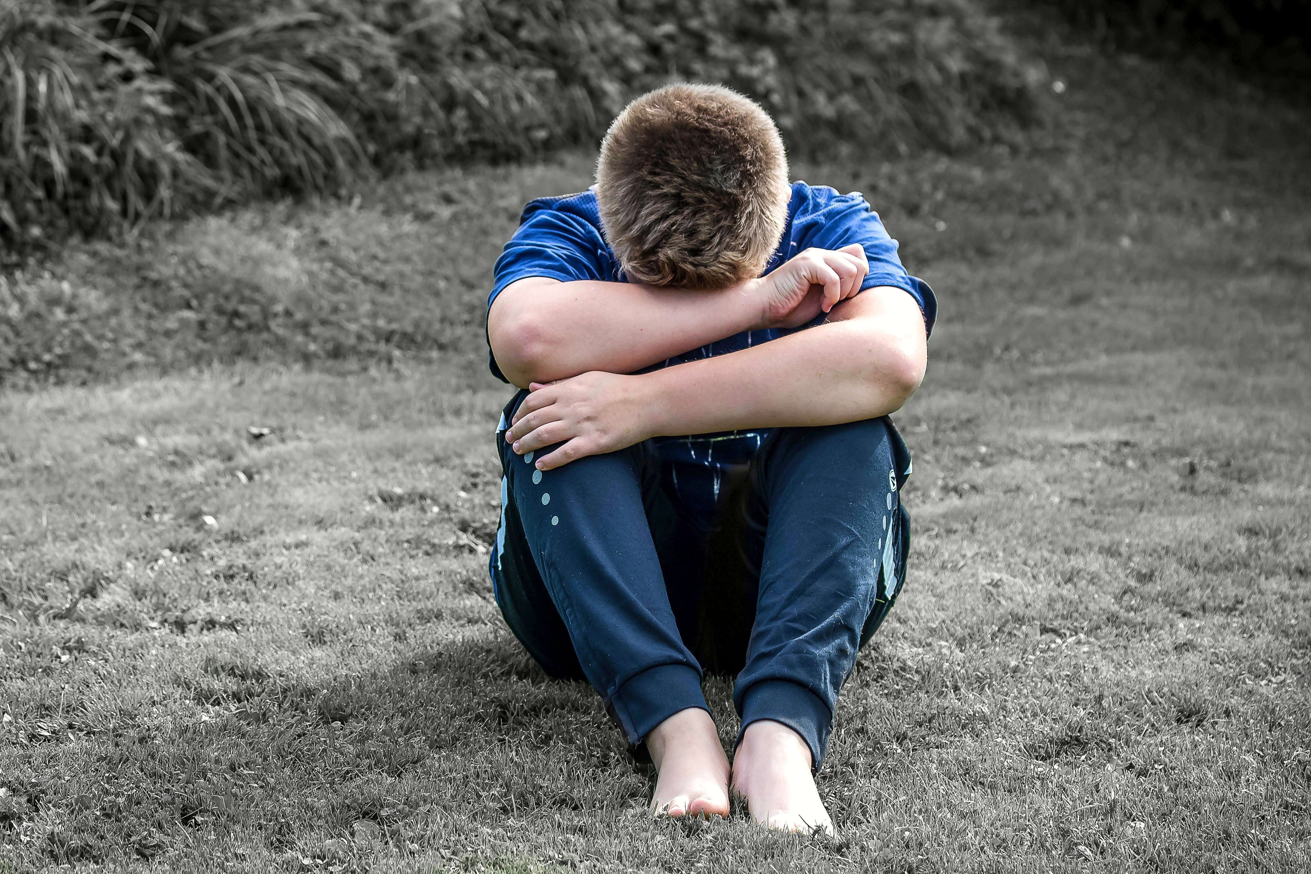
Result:
[[[656,770],[652,812],[670,816],[728,816],[729,760],[711,714],[679,710],[646,735]]]

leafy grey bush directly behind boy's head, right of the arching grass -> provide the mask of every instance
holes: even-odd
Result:
[[[1027,75],[971,0],[362,4],[433,101],[427,157],[594,142],[638,93],[714,81],[762,101],[793,152],[958,149],[1032,121]],[[438,9],[434,12],[434,9]]]

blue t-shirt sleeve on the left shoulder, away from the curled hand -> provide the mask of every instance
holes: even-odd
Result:
[[[493,269],[494,282],[488,308],[513,282],[545,276],[560,282],[602,279],[598,246],[604,242],[581,218],[558,210],[538,210],[524,215],[519,229],[505,244]]]

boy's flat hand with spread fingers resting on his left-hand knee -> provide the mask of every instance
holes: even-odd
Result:
[[[514,414],[505,439],[519,455],[564,443],[538,459],[539,470],[551,470],[589,455],[616,452],[641,443],[649,434],[650,401],[641,393],[640,376],[590,371],[543,385]]]

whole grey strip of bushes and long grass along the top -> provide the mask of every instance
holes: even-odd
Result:
[[[802,156],[1036,115],[979,0],[8,0],[0,59],[10,241],[591,144],[671,79],[760,100]]]

